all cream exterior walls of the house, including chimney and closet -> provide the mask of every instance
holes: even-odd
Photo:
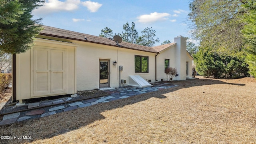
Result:
[[[191,76],[192,62],[192,57],[186,52],[186,38],[178,36],[174,38],[174,42],[176,42],[176,44],[162,50],[158,56],[156,56],[154,52],[132,50],[79,40],[40,36],[40,38],[35,41],[34,47],[31,50],[17,54],[17,100],[74,94],[76,90],[98,89],[100,88],[100,60],[102,59],[109,61],[109,86],[113,88],[120,86],[120,79],[126,80],[125,86],[127,86],[129,84],[130,75],[139,75],[144,78],[144,80],[151,80],[151,82],[156,82],[156,79],[158,81],[161,79],[166,80],[164,59],[169,59],[169,66],[173,68],[176,67],[178,70],[179,76],[175,77],[174,80],[186,80],[186,62],[189,62],[189,76]],[[40,53],[40,50],[42,53]],[[49,82],[53,77],[52,69],[54,68],[52,68],[52,65],[54,64],[52,64],[52,57],[54,52],[56,52],[55,57],[58,57],[56,58],[57,60],[63,60],[63,62],[60,62],[62,66],[58,65],[58,62],[55,63],[55,66],[65,69],[64,72],[58,71],[59,73],[56,73],[59,77],[62,77],[61,73],[63,73],[64,80],[58,79],[55,83],[63,82],[62,84],[65,88],[64,90],[59,90],[58,88],[62,88],[62,84],[60,84],[60,86],[55,85],[55,87],[51,87],[51,90],[57,88],[57,90],[53,90],[56,93],[53,91],[43,93],[43,90],[49,90],[50,86],[48,88],[45,84],[44,77],[40,75],[41,73],[38,74],[39,72],[37,73],[37,71],[35,73],[35,67],[37,65],[35,65],[34,59],[42,56],[42,58],[36,59],[36,62],[40,64],[41,59],[45,61],[48,55],[50,55],[48,65],[51,66],[47,66],[46,63],[41,66],[51,67],[51,69],[44,70],[44,73],[42,72],[42,74],[48,73],[48,76],[50,76],[50,78],[48,77]],[[38,56],[36,54],[38,54]],[[135,55],[148,57],[148,73],[135,73]],[[157,60],[155,58],[157,58]],[[117,62],[116,66],[113,65],[114,61]],[[123,66],[122,71],[119,71],[119,66]],[[155,78],[155,74],[157,78]],[[37,79],[39,79],[39,81],[36,81]],[[36,87],[35,84],[38,84],[38,87]],[[54,84],[49,83],[49,85]],[[35,90],[35,87],[39,89],[39,92],[36,91],[37,89]],[[41,89],[42,91],[40,91]],[[42,94],[40,92],[42,92]]]

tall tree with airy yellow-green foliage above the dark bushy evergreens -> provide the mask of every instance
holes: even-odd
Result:
[[[245,25],[244,1],[247,0],[193,0],[188,16],[194,39],[222,55],[240,54],[244,45],[241,32]]]

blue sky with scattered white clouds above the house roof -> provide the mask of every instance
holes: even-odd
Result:
[[[188,26],[190,0],[46,0],[44,6],[34,10],[33,19],[65,30],[99,36],[108,27],[113,34],[124,32],[126,22],[139,36],[152,27],[160,45],[165,40],[174,42],[176,36],[191,37]]]

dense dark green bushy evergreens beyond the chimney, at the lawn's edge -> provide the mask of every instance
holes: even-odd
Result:
[[[248,65],[244,56],[223,57],[212,48],[199,48],[193,55],[196,71],[202,76],[214,78],[238,78],[248,75]]]

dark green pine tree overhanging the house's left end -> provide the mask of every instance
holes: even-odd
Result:
[[[41,18],[32,20],[32,11],[44,0],[0,0],[0,52],[19,54],[33,45],[42,30]]]

